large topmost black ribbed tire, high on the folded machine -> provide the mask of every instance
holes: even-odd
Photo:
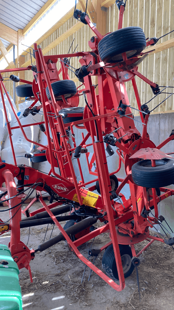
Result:
[[[146,47],[146,37],[140,27],[126,27],[107,34],[98,43],[98,53],[105,63],[123,60],[122,53],[128,58],[138,55]]]

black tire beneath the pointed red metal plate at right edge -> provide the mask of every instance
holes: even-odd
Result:
[[[174,184],[174,161],[171,159],[141,160],[132,166],[133,182],[142,187],[157,188]]]

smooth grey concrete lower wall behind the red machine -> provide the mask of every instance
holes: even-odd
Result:
[[[140,116],[135,116],[135,125],[137,129],[142,133],[142,125],[137,121],[141,121]],[[150,135],[150,140],[154,142],[156,146],[158,146],[161,142],[163,142],[172,132],[172,129],[174,129],[174,113],[161,113],[161,114],[152,114],[149,117],[149,121],[147,124],[147,132]],[[75,139],[76,139],[76,145],[79,145],[82,141],[81,133],[83,132],[84,135],[86,135],[86,130],[77,129],[75,126],[73,127],[74,133],[75,133]],[[86,144],[91,143],[91,139],[89,138],[86,142]],[[111,157],[107,158],[108,162],[108,170],[109,172],[113,172],[117,170],[118,163],[119,163],[119,157],[116,153],[116,147],[112,147],[115,151],[115,154]],[[174,140],[170,141],[168,144],[166,144],[161,150],[165,153],[173,152],[174,151]],[[93,146],[88,147],[88,152],[93,152]],[[106,152],[107,154],[107,152]],[[107,154],[108,156],[108,154]],[[174,160],[174,159],[173,159]],[[77,181],[79,181],[80,173],[77,165],[77,160],[74,159],[73,165],[75,168]],[[86,162],[86,156],[85,154],[81,154],[80,156],[80,164],[82,167],[82,172],[84,175],[85,182],[88,182],[89,180],[93,180],[96,177],[89,174],[88,166]],[[122,164],[120,171],[116,174],[117,177],[124,178],[126,176],[124,171],[124,165]],[[94,184],[94,183],[93,183]],[[92,184],[88,185],[91,186]],[[174,188],[174,185],[168,186],[168,188]],[[121,193],[125,195],[125,197],[128,199],[130,196],[129,186],[126,184],[124,188],[121,190]],[[158,205],[159,207],[159,215],[163,215],[166,219],[169,226],[172,228],[174,232],[174,197],[169,197],[167,199],[164,199],[161,201]],[[164,226],[167,228],[167,225],[163,222]],[[155,226],[161,233],[163,231],[158,227],[158,225]],[[168,229],[170,231],[170,229]],[[168,234],[168,233],[167,233]],[[168,236],[173,237],[174,233],[171,233],[171,235],[168,234]]]

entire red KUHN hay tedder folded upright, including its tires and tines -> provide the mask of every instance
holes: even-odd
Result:
[[[35,253],[61,240],[66,240],[72,252],[117,291],[124,289],[124,278],[130,276],[134,267],[140,263],[138,256],[144,249],[136,255],[134,244],[148,240],[149,243],[146,246],[148,247],[158,240],[169,246],[174,245],[173,237],[168,239],[160,238],[159,235],[156,237],[149,235],[149,227],[153,228],[156,224],[161,224],[164,219],[163,216],[158,215],[158,202],[174,194],[173,189],[165,188],[174,184],[173,160],[170,155],[160,151],[160,148],[174,139],[174,131],[158,146],[150,140],[146,129],[150,111],[147,104],[141,105],[135,81],[135,76],[138,76],[149,84],[154,96],[162,92],[157,84],[137,71],[138,65],[149,53],[148,50],[142,51],[146,46],[154,45],[157,39],[151,38],[146,42],[145,34],[140,27],[122,28],[125,3],[119,0],[116,2],[120,10],[118,30],[104,36],[98,32],[85,13],[75,10],[74,17],[88,24],[95,33],[89,41],[90,52],[43,56],[41,47],[35,43],[33,50],[35,66],[6,69],[1,70],[0,73],[0,91],[15,163],[15,165],[0,163],[2,191],[0,198],[1,201],[8,203],[7,210],[10,212],[8,222],[3,222],[1,219],[0,234],[11,230],[9,243],[11,255],[19,269],[24,267],[28,269],[31,281],[29,263],[34,259]],[[76,56],[81,56],[80,68],[76,69],[75,74],[84,85],[82,90],[76,89],[75,83],[68,76],[68,69],[71,66],[67,57]],[[61,62],[59,71],[56,68],[58,60]],[[2,73],[20,70],[32,70],[33,82],[20,80],[26,84],[17,86],[16,94],[21,97],[32,97],[35,100],[23,115],[27,116],[29,113],[35,115],[43,108],[45,119],[44,122],[26,126],[39,125],[47,135],[48,145],[42,145],[27,138],[3,84]],[[60,73],[63,80],[59,78]],[[91,76],[98,77],[99,95],[96,95]],[[14,80],[15,76],[11,76],[11,79]],[[142,135],[135,127],[126,93],[125,82],[130,80],[140,111]],[[15,113],[18,122],[16,127],[11,127],[8,120],[3,91]],[[78,107],[79,96],[82,94],[86,103],[85,108]],[[37,101],[40,101],[40,106],[35,106]],[[76,145],[73,126],[85,127],[87,130],[87,135],[82,137],[79,145]],[[46,156],[51,164],[49,174],[25,165],[16,165],[11,138],[11,130],[15,128],[21,129],[27,141],[39,146],[40,153],[37,152],[34,155],[29,153],[25,156],[38,156],[39,161]],[[74,147],[68,143],[70,134]],[[92,143],[86,144],[89,137]],[[93,172],[96,175],[96,185],[93,186],[90,184],[94,180],[85,182],[79,160],[80,153],[86,153],[89,145],[93,145],[97,168]],[[118,169],[109,173],[105,148],[111,156],[114,153],[111,146],[116,147],[120,159]],[[72,153],[78,162],[80,182],[76,180]],[[87,154],[86,160],[88,161]],[[121,163],[125,167],[125,179],[115,176],[120,170]],[[59,168],[59,174],[55,172],[55,167]],[[90,170],[89,162],[88,167]],[[17,186],[15,177],[18,179]],[[6,183],[7,188],[2,187],[3,182]],[[129,199],[121,193],[125,184],[129,184]],[[87,185],[89,188],[86,187]],[[24,187],[36,189],[39,196],[37,195],[25,210],[21,211],[21,205],[26,199]],[[95,189],[100,194],[93,193]],[[44,191],[51,196],[49,205],[46,205],[42,199],[41,192]],[[24,198],[23,201],[21,201],[22,198]],[[37,199],[41,202],[42,208],[30,213],[29,208]],[[21,212],[26,215],[25,219],[21,220]],[[61,216],[65,212],[69,212],[69,215]],[[66,230],[60,225],[60,222],[65,220],[71,221],[65,225]],[[97,220],[103,225],[95,229],[93,224]],[[20,228],[48,223],[57,225],[60,230],[58,236],[39,245],[35,250],[29,250],[20,241]],[[80,253],[78,246],[108,230],[111,241],[101,249],[89,250],[90,256],[97,256],[105,250],[102,258],[104,273]],[[73,238],[75,235],[76,238]],[[119,280],[119,284],[114,280]]]

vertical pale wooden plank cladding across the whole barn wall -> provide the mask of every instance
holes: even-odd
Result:
[[[126,8],[124,11],[123,27],[129,26],[139,26],[143,29],[146,38],[147,37],[157,37],[164,35],[165,33],[172,31],[174,29],[174,1],[172,0],[127,0]],[[107,33],[117,30],[118,25],[118,8],[115,4],[107,10]],[[41,42],[41,48],[44,49],[47,45],[58,38],[62,33],[71,28],[77,21],[71,17],[64,23],[60,28],[58,28],[54,33],[52,33],[47,39]],[[84,25],[80,30],[76,31],[74,35],[69,36],[66,40],[61,42],[59,45],[50,50],[46,55],[55,55],[67,53],[73,38],[75,38],[71,51],[73,51],[78,44],[76,51],[90,51],[88,47],[88,41],[93,36],[88,25]],[[167,41],[173,38],[174,32],[163,37],[159,40],[159,43]],[[155,48],[155,47],[154,47]],[[149,55],[146,59],[139,65],[138,71],[144,76],[157,83],[159,86],[174,86],[173,76],[174,76],[174,66],[173,66],[173,53],[174,49],[170,48],[165,51]],[[25,61],[29,59],[29,54],[25,56]],[[79,68],[80,63],[77,57],[71,58],[71,66],[74,68]],[[58,61],[57,68],[60,68],[60,63]],[[74,78],[75,75],[69,70],[70,78]],[[32,81],[33,75],[31,71],[26,71],[25,78]],[[136,78],[138,91],[140,94],[141,104],[145,104],[152,97],[153,93],[149,85],[143,82],[140,78]],[[7,86],[8,85],[8,86]],[[6,82],[7,89],[10,95],[13,97],[13,85],[12,82]],[[80,82],[76,82],[76,86],[80,86]],[[137,107],[135,95],[133,92],[132,83],[127,82],[126,88],[128,92],[128,98],[131,106]],[[173,92],[173,88],[168,88],[167,92]],[[161,101],[163,101],[168,94],[161,94],[157,96],[154,100],[150,101],[148,104],[149,109],[153,109]],[[83,96],[80,97],[80,106],[84,106]],[[160,113],[162,111],[172,111],[174,110],[174,99],[173,95],[164,101],[158,108],[153,112]],[[138,114],[137,111],[134,114]]]

